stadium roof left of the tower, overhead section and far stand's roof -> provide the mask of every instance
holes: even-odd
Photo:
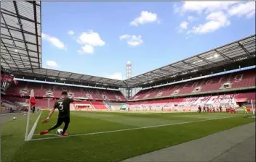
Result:
[[[20,76],[127,87],[121,80],[41,67],[41,1],[1,1],[1,69]]]

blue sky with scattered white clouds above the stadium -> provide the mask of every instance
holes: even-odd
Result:
[[[42,1],[43,67],[125,79],[255,34],[255,2]]]

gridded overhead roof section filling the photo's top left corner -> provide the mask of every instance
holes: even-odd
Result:
[[[41,67],[41,2],[1,1],[1,68]]]

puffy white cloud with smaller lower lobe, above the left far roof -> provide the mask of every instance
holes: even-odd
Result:
[[[105,42],[100,38],[100,35],[93,32],[93,30],[81,33],[76,41],[82,45],[81,49],[78,51],[79,54],[93,54],[95,47],[105,45]]]

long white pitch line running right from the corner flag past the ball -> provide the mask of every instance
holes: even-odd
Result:
[[[211,121],[211,120],[226,119],[226,118],[233,118],[233,117],[238,117],[238,116],[228,116],[228,117],[223,117],[223,118],[204,119],[204,120],[198,120],[198,121],[186,121],[186,122],[172,123],[172,124],[161,124],[161,125],[154,125],[154,126],[148,126],[148,127],[119,129],[119,130],[111,130],[111,131],[105,131],[105,132],[84,133],[84,134],[77,134],[77,135],[68,135],[65,137],[76,137],[76,136],[84,136],[84,135],[99,135],[99,134],[112,133],[112,132],[124,132],[124,131],[129,131],[129,130],[148,129],[148,128],[153,128],[153,127],[164,127],[164,126],[169,126],[169,125],[188,124],[188,123],[194,123],[194,122],[199,122],[199,121]],[[63,138],[63,137],[58,136],[58,137],[36,138],[36,139],[32,139],[32,140],[49,140],[49,139],[55,139],[55,138]]]

